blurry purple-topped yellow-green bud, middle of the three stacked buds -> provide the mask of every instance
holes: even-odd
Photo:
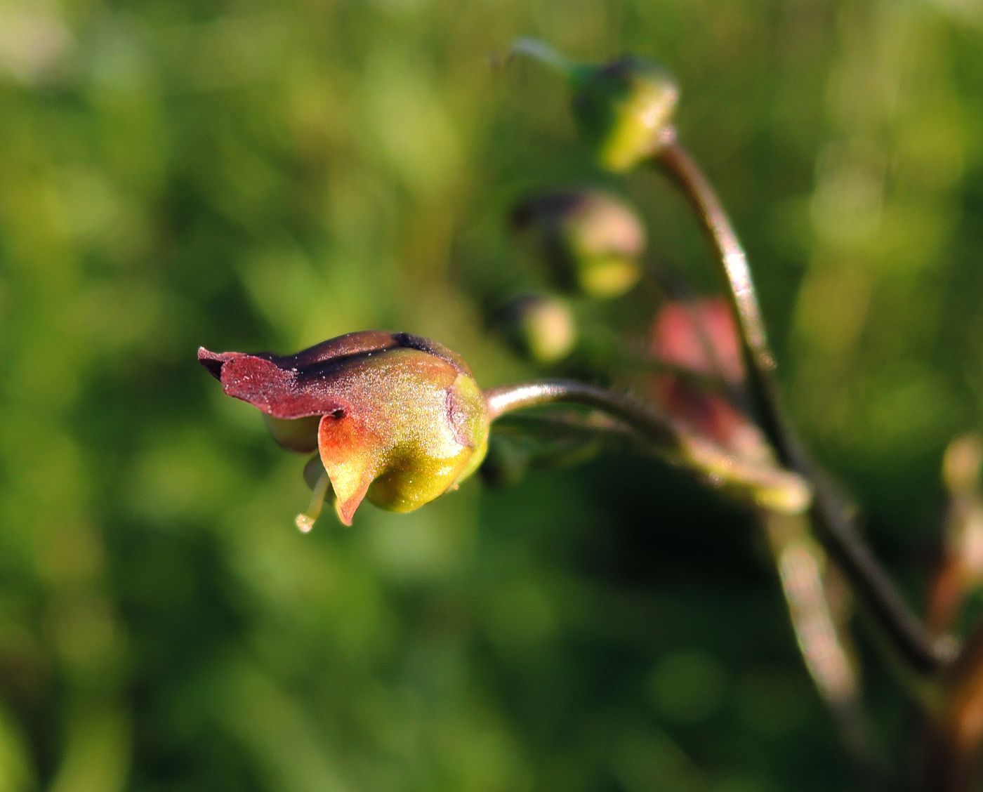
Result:
[[[617,297],[641,276],[645,226],[621,198],[571,190],[524,200],[512,215],[527,232],[557,286],[592,297]]]

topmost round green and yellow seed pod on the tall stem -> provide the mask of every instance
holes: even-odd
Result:
[[[661,66],[627,56],[570,73],[573,115],[599,164],[623,173],[658,153],[679,87]]]

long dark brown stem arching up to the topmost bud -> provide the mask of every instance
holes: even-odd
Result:
[[[682,190],[718,255],[727,296],[737,318],[748,378],[781,464],[810,481],[815,497],[810,509],[819,537],[842,568],[860,600],[883,627],[897,653],[919,674],[932,674],[952,659],[944,642],[936,642],[910,610],[891,578],[857,534],[849,507],[832,481],[808,458],[781,411],[775,356],[768,343],[747,255],[723,204],[699,166],[676,139],[664,133],[656,162]]]

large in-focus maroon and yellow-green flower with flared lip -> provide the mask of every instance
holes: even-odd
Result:
[[[488,447],[485,396],[446,347],[365,331],[296,355],[213,353],[202,366],[267,417],[284,447],[318,450],[345,525],[366,497],[408,512],[455,488]]]

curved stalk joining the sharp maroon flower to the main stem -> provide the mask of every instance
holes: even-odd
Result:
[[[630,427],[648,448],[668,461],[697,471],[714,486],[729,487],[761,508],[800,514],[812,498],[809,485],[799,476],[740,460],[652,405],[605,388],[575,380],[544,379],[502,385],[487,390],[485,396],[492,421],[515,410],[549,404],[579,404],[601,410]]]

